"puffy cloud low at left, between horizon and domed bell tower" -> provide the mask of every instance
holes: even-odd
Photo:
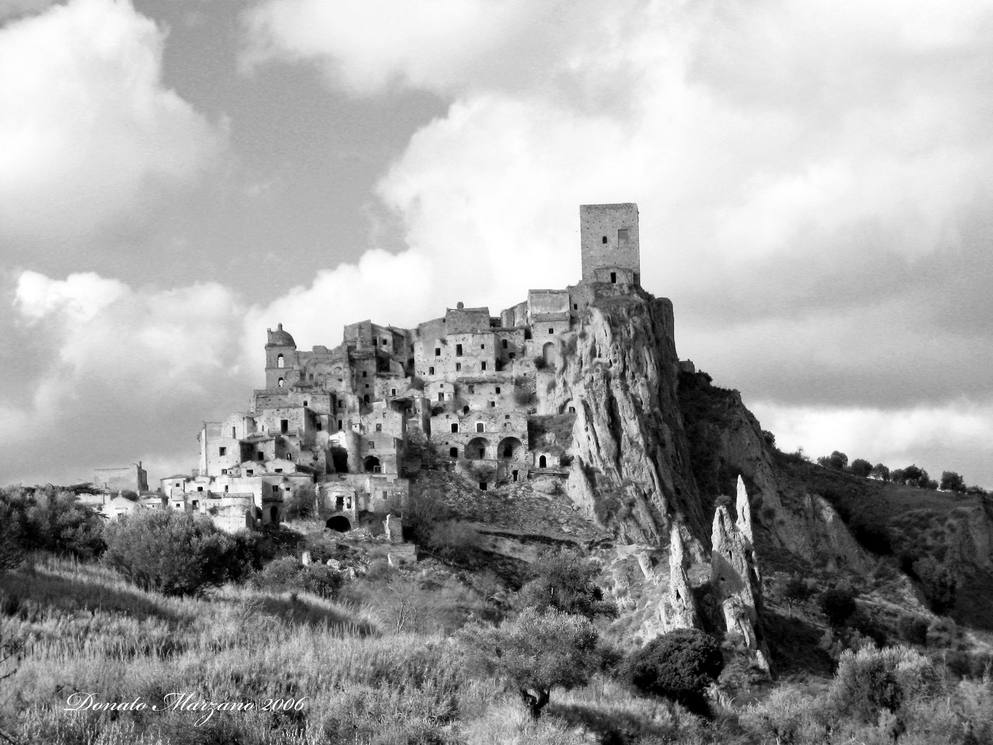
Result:
[[[0,443],[19,457],[4,460],[0,483],[88,480],[94,467],[142,458],[189,470],[199,423],[244,408],[261,376],[240,345],[246,309],[215,283],[136,288],[25,271],[11,294],[0,326],[20,371],[0,412],[16,426]]]

